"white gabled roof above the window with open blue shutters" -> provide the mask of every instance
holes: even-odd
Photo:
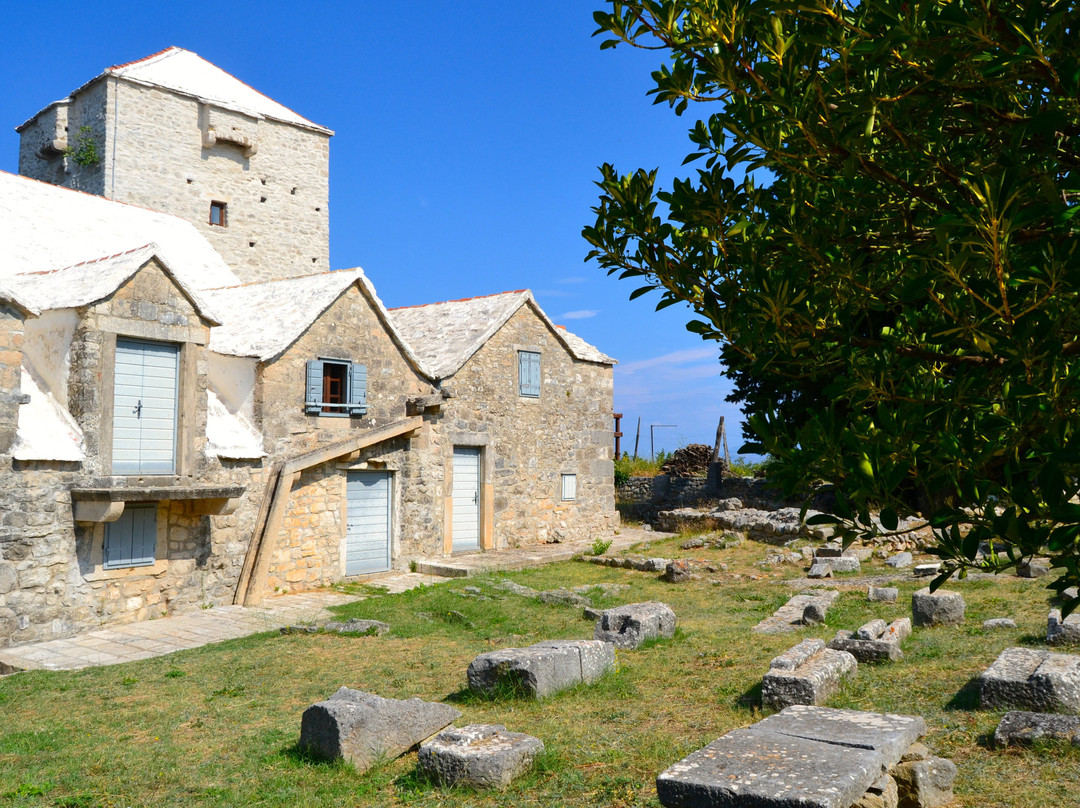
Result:
[[[428,375],[359,267],[208,291],[211,305],[225,318],[225,325],[211,331],[210,348],[233,356],[255,356],[260,362],[273,359],[353,284],[372,304],[406,360]]]

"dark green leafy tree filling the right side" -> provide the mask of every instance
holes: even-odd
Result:
[[[1048,553],[1080,583],[1075,3],[594,16],[602,48],[666,54],[656,103],[706,115],[694,178],[602,167],[589,257],[692,306],[772,477],[828,481],[846,541],[880,507],[885,533],[930,522],[945,575],[994,540],[984,567]]]

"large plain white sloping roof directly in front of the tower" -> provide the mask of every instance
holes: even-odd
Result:
[[[240,279],[194,225],[176,216],[0,172],[0,279],[49,272],[157,244],[186,289]]]

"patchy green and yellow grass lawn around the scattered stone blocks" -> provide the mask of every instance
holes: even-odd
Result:
[[[260,634],[111,668],[29,672],[0,679],[0,805],[56,806],[657,806],[659,771],[734,727],[762,717],[761,675],[769,660],[807,636],[831,638],[875,617],[909,615],[866,602],[851,576],[828,625],[786,635],[751,633],[797,590],[801,567],[761,569],[773,550],[754,542],[681,551],[676,540],[650,555],[724,562],[708,579],[666,584],[654,574],[568,562],[372,597],[343,617],[393,627],[383,637]],[[863,575],[889,571],[879,561]],[[754,575],[758,580],[752,580]],[[673,641],[619,652],[619,672],[592,687],[542,702],[487,701],[464,690],[477,654],[546,638],[591,638],[580,608],[501,592],[511,578],[535,589],[600,582],[627,589],[599,606],[658,600],[672,606]],[[478,587],[490,600],[465,596]],[[926,742],[960,769],[957,805],[1045,808],[1077,805],[1080,750],[1047,744],[994,750],[1002,713],[977,709],[972,681],[1012,645],[1043,647],[1048,592],[1039,581],[1003,577],[959,581],[967,624],[916,629],[899,663],[861,664],[831,706],[922,715]],[[982,621],[1013,617],[1016,630]],[[357,773],[313,762],[297,749],[300,714],[341,685],[383,697],[446,700],[458,725],[504,724],[543,740],[535,771],[508,791],[445,790],[424,782],[416,754]]]

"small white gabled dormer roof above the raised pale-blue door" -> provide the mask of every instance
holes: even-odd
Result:
[[[48,272],[10,275],[3,279],[2,285],[14,293],[17,299],[26,301],[26,305],[32,307],[36,312],[48,309],[75,309],[108,297],[151,258],[158,258],[199,314],[215,325],[220,322],[200,294],[176,277],[171,261],[157,244],[145,244],[126,253],[82,261]],[[0,294],[3,291],[0,289]]]

